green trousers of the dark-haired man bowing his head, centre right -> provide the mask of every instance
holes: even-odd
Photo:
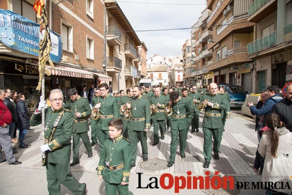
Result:
[[[170,142],[170,156],[169,161],[174,162],[175,153],[178,148],[178,137],[180,139],[180,154],[185,154],[185,148],[187,146],[187,131],[188,129],[183,130],[174,130],[171,129],[171,142]]]

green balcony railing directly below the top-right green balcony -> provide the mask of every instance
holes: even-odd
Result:
[[[277,44],[277,30],[255,40],[254,42],[249,43],[247,45],[248,54],[254,54],[258,51],[267,49],[276,44]]]

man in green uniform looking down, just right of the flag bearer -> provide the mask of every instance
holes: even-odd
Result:
[[[79,164],[80,138],[88,152],[88,158],[92,157],[92,148],[87,132],[89,125],[87,116],[91,114],[91,108],[87,98],[81,98],[76,89],[69,89],[70,100],[64,104],[64,108],[72,111],[73,115],[73,162],[70,166]]]

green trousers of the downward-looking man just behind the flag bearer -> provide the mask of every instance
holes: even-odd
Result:
[[[92,153],[92,148],[90,145],[90,140],[86,132],[82,132],[82,133],[77,133],[77,131],[75,130],[75,132],[73,132],[73,162],[75,161],[79,161],[79,147],[80,147],[80,138],[83,141],[83,144],[88,152],[88,154]]]

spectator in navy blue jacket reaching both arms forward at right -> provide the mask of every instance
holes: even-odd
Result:
[[[268,87],[268,98],[265,100],[264,105],[257,109],[253,106],[252,102],[248,103],[248,107],[252,113],[257,116],[264,116],[263,117],[263,124],[265,124],[265,116],[270,113],[275,103],[281,101],[283,98],[279,95],[280,90],[277,86]]]

